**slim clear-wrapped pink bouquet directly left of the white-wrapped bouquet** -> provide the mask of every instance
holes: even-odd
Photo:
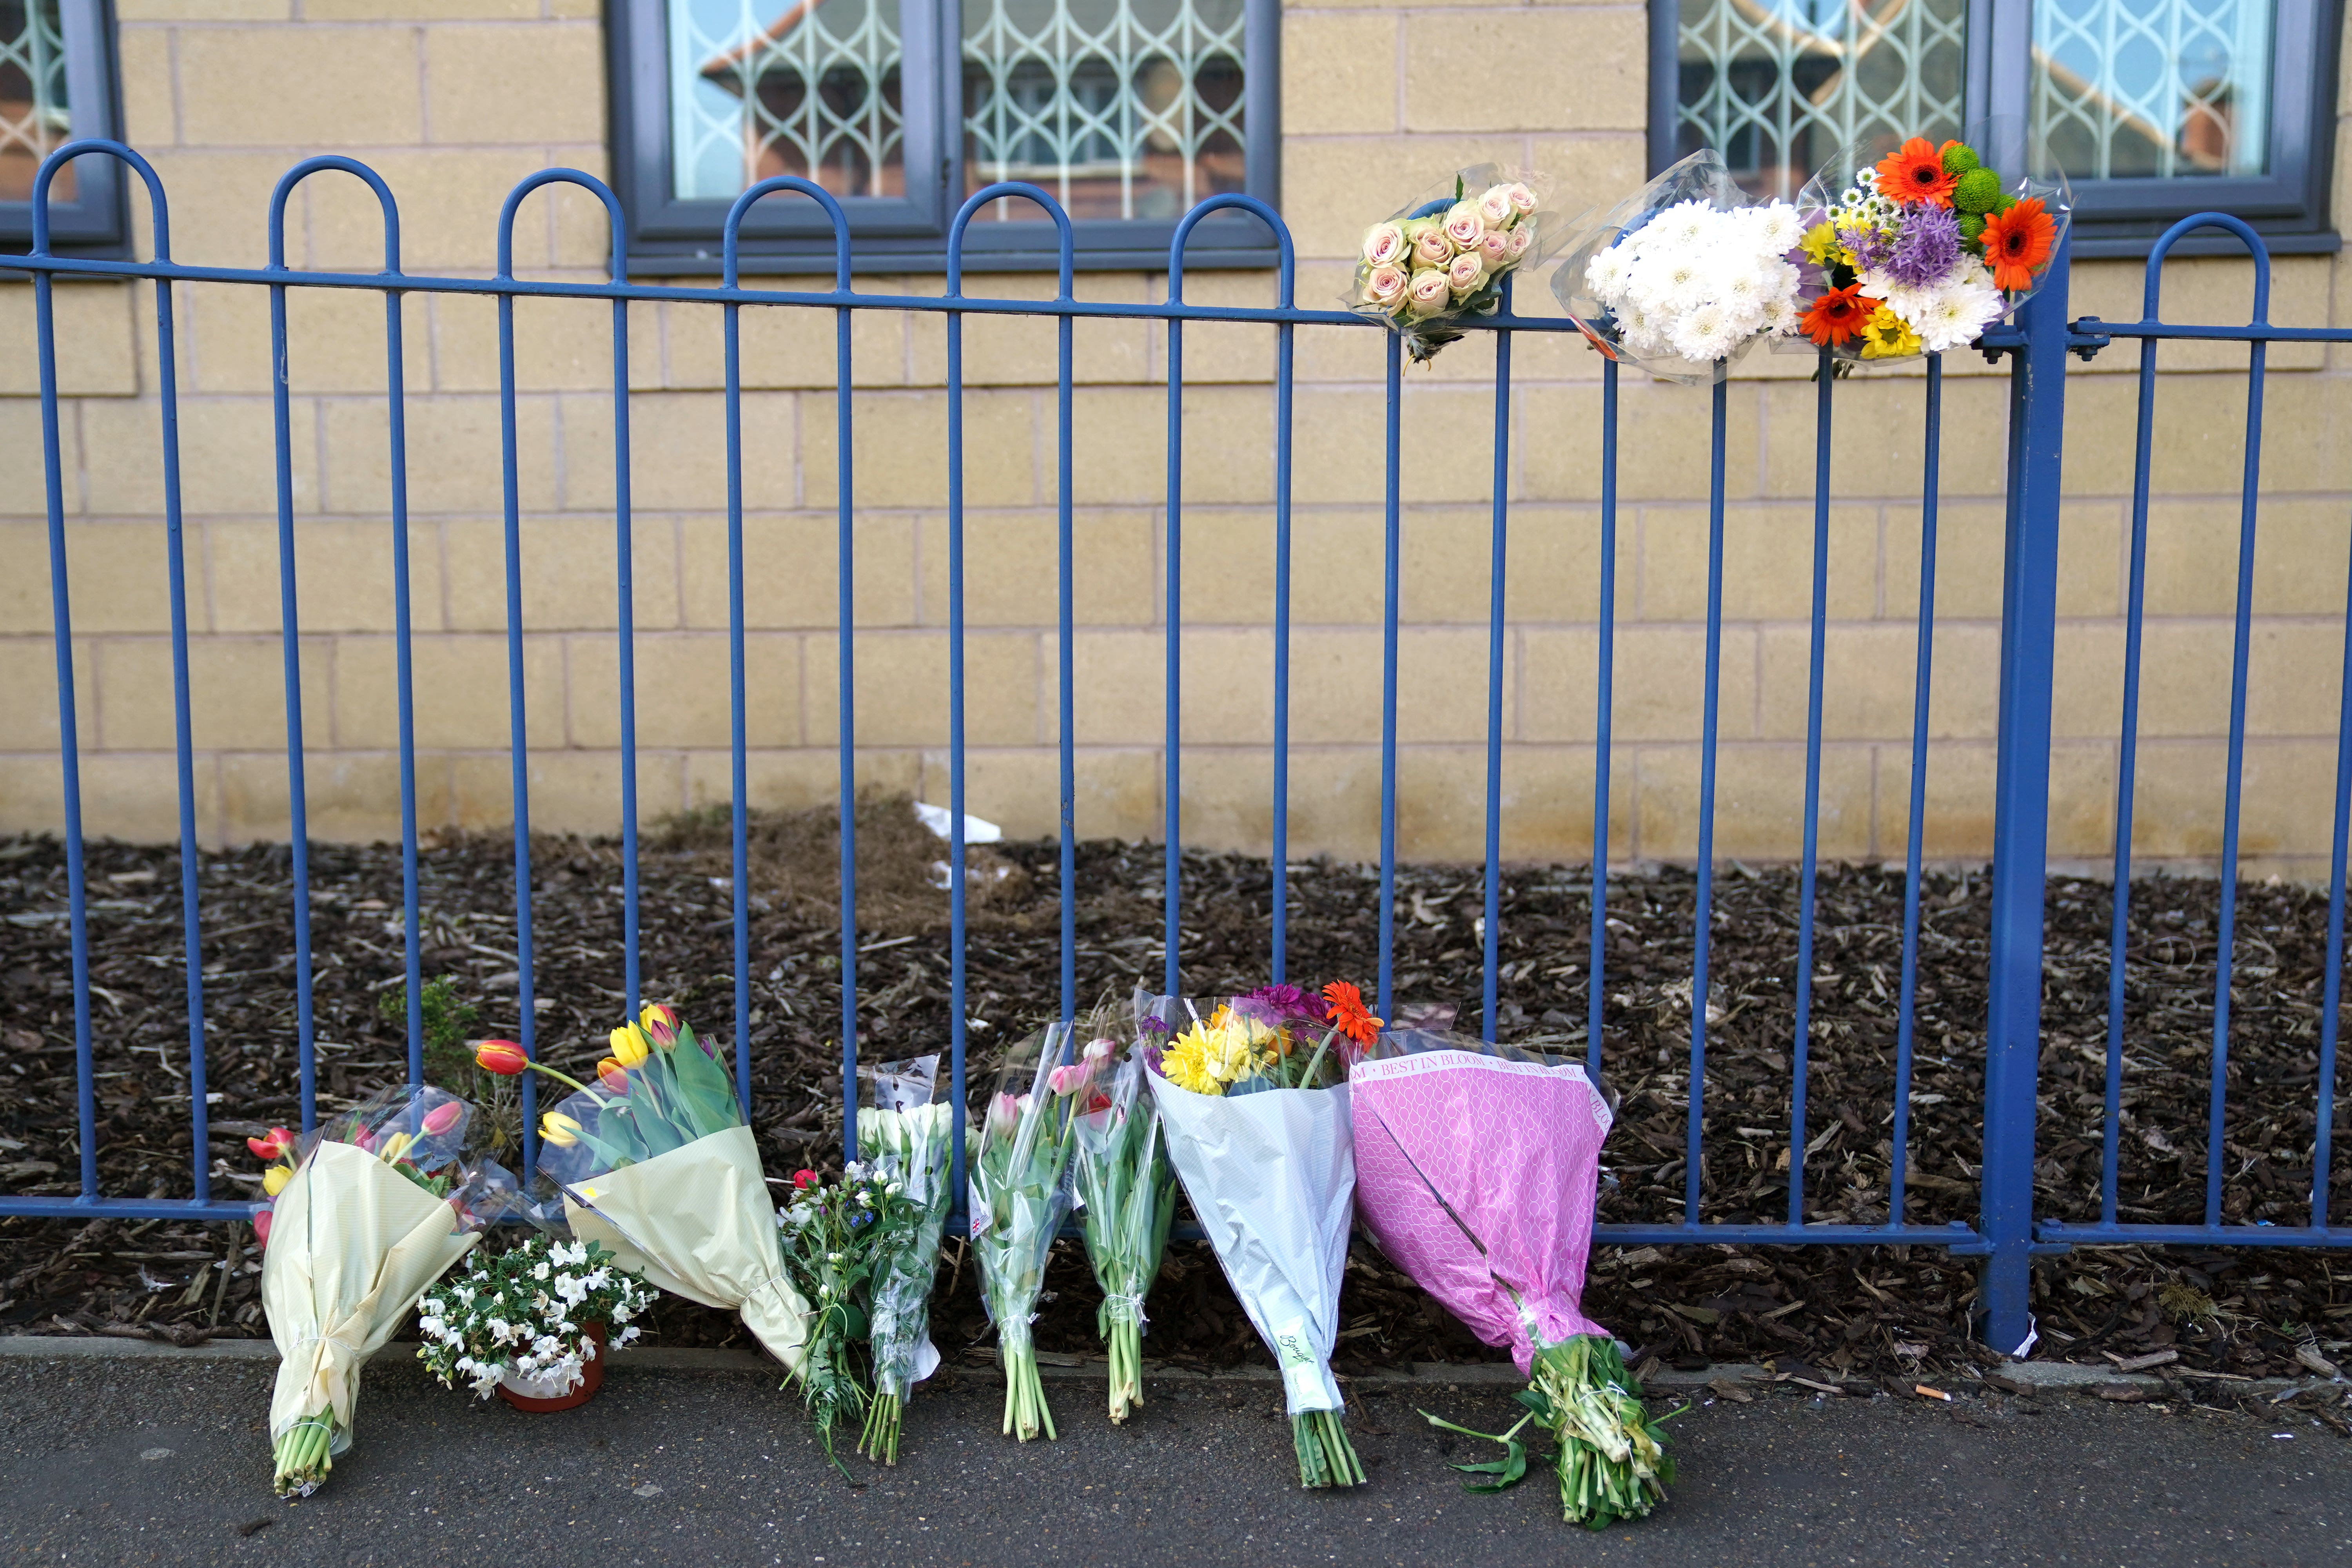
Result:
[[[1110,1420],[1124,1422],[1143,1403],[1143,1298],[1160,1276],[1160,1258],[1176,1218],[1176,1171],[1169,1166],[1160,1103],[1143,1086],[1145,1048],[1167,1039],[1174,999],[1136,992],[1124,1023],[1098,1013],[1098,1032],[1080,1060],[1089,1070],[1087,1105],[1077,1117],[1077,1218],[1087,1229],[1087,1260],[1103,1305],[1094,1328],[1110,1354]]]

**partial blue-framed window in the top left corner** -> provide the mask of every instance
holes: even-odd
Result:
[[[33,176],[75,136],[113,136],[113,61],[101,0],[0,0],[0,249],[33,237]],[[103,165],[103,167],[101,167]],[[122,237],[113,160],[78,158],[49,181],[56,252]]]

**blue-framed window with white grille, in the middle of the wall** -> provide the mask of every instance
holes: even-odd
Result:
[[[1202,197],[1272,197],[1277,26],[1279,0],[623,0],[633,249],[708,263],[727,202],[797,174],[842,200],[861,261],[936,256],[969,190],[1023,181],[1070,214],[1082,261],[1138,263]],[[821,261],[809,216],[764,202],[746,252]],[[983,266],[1051,259],[1028,202],[974,228]],[[1216,216],[1188,259],[1263,261],[1270,240]]]

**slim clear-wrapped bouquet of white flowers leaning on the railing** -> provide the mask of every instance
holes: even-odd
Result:
[[[938,1371],[931,1345],[931,1279],[948,1222],[955,1105],[941,1093],[938,1056],[858,1070],[858,1154],[882,1178],[889,1204],[873,1232],[868,1316],[873,1331],[873,1403],[858,1450],[898,1462],[898,1420],[915,1385]]]

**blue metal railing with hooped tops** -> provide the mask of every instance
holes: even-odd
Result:
[[[155,259],[153,261],[89,261],[49,254],[47,193],[56,172],[73,158],[111,155],[127,162],[146,183],[153,214]],[[383,270],[381,273],[294,273],[285,266],[285,207],[294,186],[320,172],[350,174],[365,181],[383,212]],[[612,216],[614,249],[609,277],[604,282],[524,282],[513,275],[513,221],[520,202],[548,183],[569,183],[604,202]],[[746,212],[769,195],[797,195],[814,200],[833,223],[835,280],[826,292],[771,292],[746,289],[739,275],[739,230]],[[1056,294],[1049,301],[1033,299],[971,299],[962,292],[962,244],[974,214],[995,200],[1021,197],[1035,202],[1054,219],[1061,237]],[[1195,306],[1183,294],[1183,247],[1192,226],[1209,212],[1235,207],[1254,214],[1272,228],[1279,240],[1279,277],[1275,306]],[[1247,322],[1275,329],[1275,614],[1272,614],[1272,940],[1268,966],[1275,978],[1287,969],[1287,851],[1289,851],[1289,644],[1291,644],[1291,409],[1294,409],[1294,334],[1298,327],[1371,327],[1345,310],[1303,310],[1296,303],[1296,263],[1289,230],[1265,205],[1244,195],[1218,195],[1178,226],[1169,252],[1169,296],[1164,303],[1101,303],[1073,296],[1073,242],[1068,214],[1035,186],[990,186],[976,193],[957,214],[948,235],[948,280],[943,296],[858,294],[851,289],[851,240],[842,207],[823,188],[804,179],[769,179],[746,190],[731,207],[724,228],[724,273],[717,287],[640,284],[628,280],[621,252],[619,205],[600,181],[572,169],[546,169],[524,179],[506,197],[499,216],[499,266],[492,277],[423,277],[400,268],[400,219],[386,183],[350,158],[313,158],[278,183],[268,212],[268,266],[266,268],[212,268],[188,266],[172,259],[169,226],[162,181],[155,169],[134,150],[108,141],[71,143],[52,153],[33,188],[33,252],[9,259],[9,268],[33,275],[40,395],[42,395],[42,477],[49,522],[49,585],[54,599],[56,642],[56,689],[59,689],[59,736],[64,771],[64,832],[68,875],[68,919],[73,945],[73,1027],[78,1065],[78,1135],[80,1135],[80,1194],[0,1194],[0,1215],[125,1215],[125,1218],[242,1218],[249,1204],[212,1197],[212,1159],[207,1140],[205,1103],[205,992],[200,947],[200,898],[198,898],[198,835],[195,835],[195,785],[193,743],[188,717],[188,628],[183,609],[183,545],[181,545],[181,484],[179,484],[179,421],[176,421],[176,360],[172,353],[172,287],[176,282],[216,282],[263,287],[270,296],[270,348],[273,348],[273,414],[275,414],[275,477],[278,477],[278,545],[280,545],[280,635],[285,654],[285,705],[287,705],[287,778],[292,802],[292,875],[294,875],[294,969],[296,969],[296,1037],[303,1124],[315,1119],[315,1030],[313,1030],[313,952],[308,922],[308,818],[303,795],[306,748],[301,731],[301,595],[294,574],[296,522],[292,480],[292,430],[289,430],[289,381],[287,381],[287,289],[369,289],[383,294],[386,310],[386,440],[390,461],[390,529],[393,529],[393,576],[395,576],[395,649],[397,649],[397,745],[400,745],[400,823],[402,823],[402,971],[407,978],[407,1065],[409,1077],[423,1072],[423,1020],[421,1020],[421,947],[419,947],[419,870],[416,870],[416,745],[414,745],[414,682],[409,637],[409,585],[407,585],[407,449],[405,449],[405,383],[402,383],[402,301],[409,294],[487,294],[499,310],[499,416],[503,454],[503,559],[506,559],[506,651],[508,651],[508,715],[510,715],[510,766],[513,766],[513,835],[515,835],[515,969],[520,1037],[527,1051],[536,1051],[534,994],[532,994],[532,842],[529,842],[529,743],[524,726],[524,649],[522,649],[522,538],[520,538],[520,480],[515,435],[515,329],[513,308],[517,299],[602,299],[612,308],[612,407],[614,407],[614,557],[619,569],[619,705],[621,705],[621,858],[623,858],[623,940],[626,940],[626,997],[635,1009],[640,1001],[640,898],[637,898],[637,726],[635,726],[635,665],[633,665],[633,583],[630,583],[630,374],[628,374],[628,310],[635,303],[684,301],[717,303],[724,315],[724,418],[727,418],[727,567],[729,567],[729,745],[731,745],[731,929],[734,929],[734,1046],[736,1081],[750,1110],[750,858],[748,858],[748,778],[746,778],[746,661],[743,661],[743,428],[741,428],[741,313],[746,306],[800,306],[826,308],[835,317],[835,496],[837,496],[837,602],[840,602],[840,668],[837,668],[837,750],[840,750],[840,973],[842,973],[842,1084],[854,1084],[858,1056],[858,936],[856,936],[856,625],[854,625],[854,400],[851,378],[851,322],[858,310],[943,313],[948,341],[948,788],[950,788],[950,1063],[953,1093],[964,1098],[964,1048],[967,1048],[967,875],[964,875],[964,336],[967,315],[1028,315],[1056,322],[1056,632],[1058,632],[1058,870],[1061,870],[1061,964],[1058,1004],[1070,1016],[1077,1004],[1077,933],[1075,933],[1075,853],[1077,853],[1077,783],[1075,783],[1075,712],[1073,712],[1073,322],[1077,320],[1155,320],[1167,324],[1167,599],[1164,599],[1164,889],[1162,889],[1162,940],[1164,985],[1181,990],[1178,938],[1183,933],[1181,903],[1181,853],[1183,853],[1183,733],[1181,733],[1181,630],[1183,630],[1183,386],[1185,386],[1185,324],[1188,322]],[[2249,327],[2171,327],[2157,320],[2157,282],[2164,254],[2171,244],[2197,226],[2220,226],[2237,233],[2253,252],[2256,308]],[[2319,1128],[2314,1150],[2312,1218],[2307,1227],[2253,1227],[2220,1222],[2220,1135],[2227,1072],[2227,999],[2230,999],[2230,882],[2237,865],[2239,839],[2239,792],[2244,766],[2246,729],[2246,663],[2251,623],[2251,559],[2256,531],[2256,480],[2260,449],[2260,390],[2263,353],[2270,341],[2352,341],[2352,329],[2286,329],[2270,327],[2267,306],[2270,261],[2260,240],[2237,219],[2206,214],[2176,226],[2150,259],[2147,306],[2140,322],[2103,324],[2084,320],[2070,324],[2067,308],[2067,261],[2060,252],[2042,294],[2020,310],[2016,327],[1990,331],[1983,348],[1999,357],[2011,355],[2009,397],[2009,543],[2006,585],[2002,604],[2002,708],[1999,708],[1999,762],[1997,762],[1997,825],[1994,825],[1994,877],[1992,877],[1992,954],[1990,954],[1990,1009],[1985,1041],[1985,1105],[1983,1105],[1983,1197],[1976,1225],[1912,1225],[1905,1220],[1903,1180],[1910,1140],[1910,1081],[1915,1056],[1915,1004],[1919,997],[1919,947],[1922,947],[1922,860],[1926,823],[1926,766],[1929,766],[1929,686],[1933,670],[1936,635],[1936,512],[1940,480],[1940,430],[1943,430],[1943,362],[1929,357],[1924,381],[1924,442],[1922,442],[1922,552],[1919,552],[1919,607],[1917,607],[1917,670],[1912,701],[1912,755],[1910,755],[1910,813],[1905,832],[1905,889],[1903,889],[1903,954],[1900,954],[1900,1006],[1896,1020],[1893,1063],[1893,1114],[1891,1114],[1891,1192],[1889,1218],[1882,1225],[1825,1225],[1806,1222],[1806,1086],[1809,1086],[1809,1037],[1811,1037],[1811,978],[1813,978],[1813,917],[1820,853],[1820,755],[1823,755],[1823,703],[1825,703],[1825,635],[1828,635],[1828,588],[1830,588],[1830,433],[1837,400],[1837,381],[1818,376],[1816,390],[1816,489],[1813,489],[1813,541],[1811,541],[1811,621],[1809,621],[1809,686],[1806,686],[1806,745],[1804,745],[1804,823],[1799,863],[1799,950],[1795,978],[1795,1034],[1792,1034],[1792,1081],[1790,1081],[1790,1190],[1788,1218],[1773,1222],[1710,1222],[1703,1215],[1703,1133],[1705,1133],[1705,1053],[1708,1053],[1708,966],[1715,922],[1712,858],[1715,858],[1715,788],[1717,788],[1717,738],[1722,719],[1722,635],[1724,635],[1724,496],[1726,496],[1726,411],[1729,388],[1717,383],[1710,397],[1712,444],[1708,487],[1708,597],[1705,597],[1705,698],[1698,757],[1698,858],[1696,858],[1696,919],[1691,961],[1691,1046],[1689,1046],[1689,1121],[1684,1161],[1682,1218],[1656,1225],[1604,1225],[1604,1241],[1623,1244],[1675,1244],[1675,1241],[1748,1241],[1748,1244],[1926,1244],[1957,1255],[1985,1258],[1985,1288],[1980,1305],[1987,1312],[1987,1338],[2002,1347],[2020,1342],[2030,1328],[2030,1260],[2037,1251],[2058,1251],[2072,1241],[2209,1241],[2209,1244],[2265,1244],[2265,1246],[2352,1246],[2352,1229],[2326,1225],[2326,1180],[2331,1154],[2333,1117],[2333,1065],[2338,1018],[2343,994],[2343,924],[2345,924],[2345,863],[2347,827],[2352,827],[2352,646],[2347,646],[2345,715],[2338,738],[2338,788],[2333,818],[2333,858],[2328,886],[2328,952],[2326,952],[2326,1013],[2319,1046]],[[167,569],[172,578],[172,658],[174,658],[174,736],[179,759],[179,842],[181,842],[181,914],[186,938],[186,985],[188,985],[188,1079],[191,1079],[191,1135],[193,1135],[193,1199],[129,1199],[106,1197],[99,1190],[96,1164],[96,1103],[92,1060],[92,1013],[89,1013],[89,926],[87,926],[87,879],[82,867],[82,788],[80,788],[80,738],[75,729],[75,672],[73,672],[73,623],[66,559],[66,491],[61,475],[59,442],[59,371],[56,371],[56,322],[52,308],[52,284],[56,277],[122,277],[155,284],[158,322],[158,397],[162,411],[162,508]],[[1494,381],[1494,496],[1491,496],[1491,552],[1489,552],[1489,637],[1486,637],[1486,790],[1484,790],[1484,929],[1482,929],[1482,997],[1484,1030],[1496,1027],[1498,973],[1501,973],[1501,832],[1503,832],[1503,656],[1508,644],[1508,529],[1510,529],[1510,418],[1512,418],[1512,339],[1519,331],[1576,331],[1571,322],[1557,317],[1522,317],[1510,306],[1505,287],[1503,310],[1486,320],[1468,322],[1475,331],[1491,331],[1496,341]],[[2110,978],[2110,1027],[2107,1027],[2107,1095],[2105,1095],[2105,1164],[2103,1164],[2103,1211],[2098,1225],[2060,1225],[2034,1220],[2032,1159],[2037,1131],[2037,1053],[2039,1053],[2039,1006],[2042,1006],[2042,898],[2046,863],[2046,816],[2051,788],[2051,682],[2053,682],[2053,623],[2056,623],[2056,567],[2058,567],[2058,491],[2063,465],[2063,397],[2067,353],[2089,355],[2110,339],[2143,339],[2140,362],[2140,447],[2133,480],[2133,534],[2131,534],[2131,602],[2129,602],[2129,651],[2126,691],[2122,724],[2122,771],[2114,846],[2114,940]],[[2124,1046],[2124,936],[2129,914],[2131,870],[2131,792],[2136,762],[2138,682],[2140,682],[2140,623],[2145,607],[2145,543],[2147,543],[2147,491],[2150,491],[2150,442],[2154,400],[2154,348],[2161,339],[2194,341],[2244,341],[2251,348],[2251,402],[2246,411],[2246,473],[2241,487],[2241,541],[2237,576],[2237,646],[2230,701],[2230,776],[2223,842],[2223,952],[2216,980],[2216,1051],[2209,1124],[2209,1175],[2206,1175],[2206,1222],[2204,1225],[2119,1225],[2117,1222],[2117,1124],[2122,1093],[2122,1046]],[[1402,353],[1395,336],[1385,343],[1385,508],[1383,508],[1383,599],[1381,599],[1381,910],[1378,910],[1378,1009],[1388,1013],[1395,1001],[1395,889],[1397,889],[1397,621],[1402,590]],[[1823,367],[1825,369],[1825,367]],[[1604,1065],[1604,973],[1606,973],[1606,875],[1609,875],[1609,788],[1611,788],[1611,703],[1616,677],[1616,545],[1618,545],[1618,364],[1602,367],[1602,421],[1599,440],[1599,607],[1597,607],[1597,722],[1595,722],[1595,792],[1592,792],[1592,877],[1590,877],[1590,964],[1588,964],[1588,1060],[1595,1070]],[[536,1154],[536,1128],[532,1126],[532,1084],[524,1079],[524,1126],[529,1161]],[[854,1098],[854,1095],[849,1095]],[[854,1110],[844,1117],[844,1143],[856,1147]],[[957,1126],[957,1161],[962,1161],[962,1126]]]

